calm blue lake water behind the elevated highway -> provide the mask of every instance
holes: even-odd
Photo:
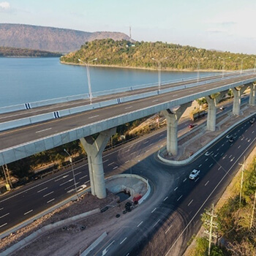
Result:
[[[203,75],[211,72],[203,72]],[[90,67],[92,91],[157,83],[157,71]],[[197,72],[162,72],[162,81],[195,78]],[[86,67],[59,58],[0,58],[0,107],[88,93]]]

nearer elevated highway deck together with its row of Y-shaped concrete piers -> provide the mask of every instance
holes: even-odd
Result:
[[[3,130],[0,132],[0,165],[79,139],[88,155],[91,192],[103,198],[106,191],[102,151],[118,125],[163,111],[167,118],[167,152],[175,155],[178,148],[178,118],[193,100],[206,97],[209,105],[207,129],[214,131],[217,102],[228,89],[232,89],[233,114],[239,115],[241,94],[248,86],[249,105],[255,105],[255,80],[256,73],[247,72],[239,76],[230,76],[225,80],[219,78],[211,83],[195,83],[189,88],[183,86],[182,89],[175,91],[157,91],[151,97],[136,98],[128,102],[120,98],[119,104]],[[217,93],[220,93],[218,97],[211,97]],[[96,134],[96,139],[95,136],[91,136]]]

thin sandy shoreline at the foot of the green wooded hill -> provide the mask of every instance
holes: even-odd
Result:
[[[74,65],[74,66],[86,66],[85,64],[73,63],[73,62],[64,62],[60,61],[61,64],[64,65]],[[150,70],[150,71],[157,71],[157,68],[148,68],[148,67],[124,67],[118,65],[105,65],[105,64],[93,64],[89,65],[90,67],[109,67],[109,68],[119,68],[119,69],[142,69],[142,70]],[[197,69],[161,69],[161,72],[197,72]],[[226,70],[225,72],[231,72],[234,70]],[[222,72],[222,70],[217,69],[199,69],[199,72]]]

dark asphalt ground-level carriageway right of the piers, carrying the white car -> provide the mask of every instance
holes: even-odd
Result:
[[[146,159],[144,165],[151,166],[146,176],[153,183],[154,195],[136,209],[129,226],[109,233],[92,255],[104,255],[106,251],[106,255],[124,256],[183,255],[187,241],[200,228],[200,214],[217,202],[238,164],[256,146],[255,132],[255,124],[244,121],[185,167],[167,167],[156,164],[154,157]],[[228,135],[234,136],[233,143]],[[194,168],[200,170],[200,176],[189,180]]]

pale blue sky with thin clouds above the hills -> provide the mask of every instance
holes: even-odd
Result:
[[[125,34],[131,26],[138,41],[256,54],[255,11],[255,0],[0,0],[0,23]]]

